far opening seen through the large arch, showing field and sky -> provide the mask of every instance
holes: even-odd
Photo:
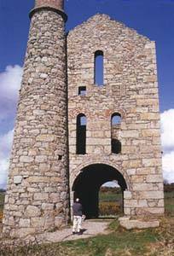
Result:
[[[102,184],[99,190],[99,217],[116,217],[123,213],[123,191],[118,181]]]

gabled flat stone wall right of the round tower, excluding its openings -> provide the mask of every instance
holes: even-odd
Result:
[[[94,84],[96,50],[104,85]],[[125,177],[125,214],[163,214],[155,44],[107,15],[95,15],[67,36],[70,189],[84,166],[103,163]],[[86,86],[86,95],[78,87]],[[78,113],[87,118],[86,154],[76,154]],[[111,116],[120,113],[120,154],[111,153]],[[90,184],[89,184],[90,185]],[[73,191],[71,192],[73,201]]]

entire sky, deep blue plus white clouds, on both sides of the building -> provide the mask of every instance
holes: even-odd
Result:
[[[163,151],[170,159],[166,166],[169,162],[174,166],[174,0],[66,0],[65,3],[67,31],[91,15],[103,13],[156,42]],[[33,6],[34,0],[0,0],[0,178],[1,168],[4,173],[8,168],[8,147],[13,137],[30,25],[28,13]],[[5,149],[4,143],[9,145]],[[174,167],[170,168],[174,173]]]

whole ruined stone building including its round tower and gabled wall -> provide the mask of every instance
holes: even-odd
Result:
[[[97,217],[98,191],[113,180],[125,216],[164,212],[155,44],[107,15],[66,35],[63,2],[36,0],[30,13],[3,218],[10,236],[67,224],[76,196]]]

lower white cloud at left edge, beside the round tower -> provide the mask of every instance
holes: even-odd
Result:
[[[9,131],[0,137],[0,189],[5,189],[9,170],[9,153],[14,131]]]

